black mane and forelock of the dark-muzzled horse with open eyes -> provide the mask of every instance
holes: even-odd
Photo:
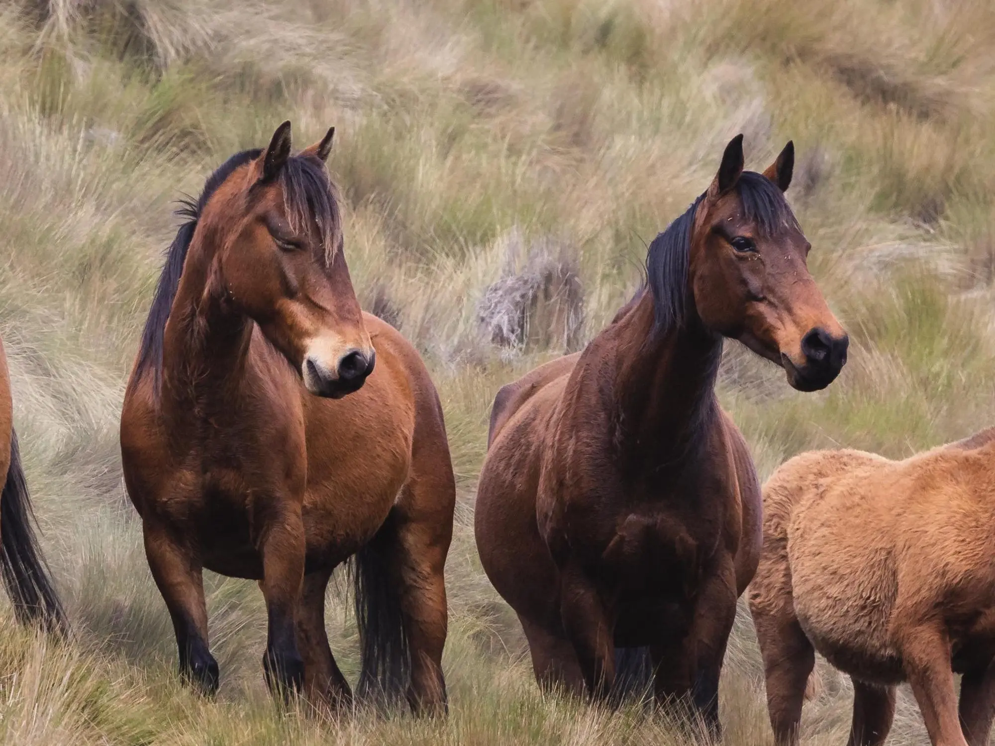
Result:
[[[735,190],[742,204],[743,217],[756,223],[761,235],[770,236],[779,228],[798,225],[784,194],[763,174],[743,171]],[[691,310],[688,264],[695,214],[703,199],[704,194],[699,195],[688,210],[650,244],[644,291],[649,288],[653,293],[655,335],[684,326]]]

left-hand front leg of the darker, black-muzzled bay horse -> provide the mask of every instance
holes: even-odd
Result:
[[[593,699],[615,685],[615,630],[594,584],[572,560],[561,573],[560,613]]]

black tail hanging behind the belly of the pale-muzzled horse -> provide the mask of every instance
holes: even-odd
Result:
[[[363,699],[388,707],[404,700],[411,678],[401,599],[389,566],[392,524],[390,516],[356,553],[353,565],[362,663],[356,690]]]

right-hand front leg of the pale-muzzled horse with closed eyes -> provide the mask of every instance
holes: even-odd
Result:
[[[304,525],[299,503],[273,504],[262,533],[263,597],[268,634],[263,669],[271,690],[288,694],[303,684],[304,663],[298,653],[295,611],[304,575]]]

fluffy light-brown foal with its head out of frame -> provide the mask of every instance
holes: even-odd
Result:
[[[810,452],[767,480],[749,604],[778,744],[798,743],[815,652],[853,679],[850,746],[885,742],[903,681],[934,746],[988,743],[993,465],[995,428],[898,462]]]

